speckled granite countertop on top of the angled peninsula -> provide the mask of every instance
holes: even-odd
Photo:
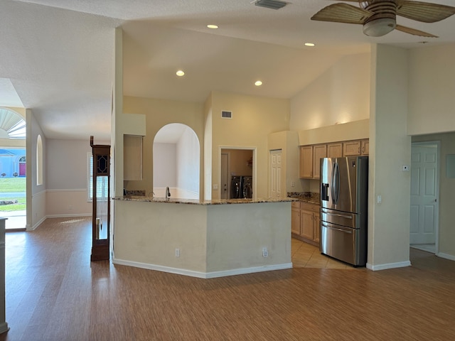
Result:
[[[190,205],[228,205],[228,204],[257,204],[259,202],[291,202],[297,201],[292,197],[284,198],[257,198],[257,199],[223,199],[223,200],[197,200],[197,199],[181,199],[178,197],[145,197],[136,195],[124,195],[113,197],[113,200],[122,201],[139,201],[139,202],[166,202],[169,204],[190,204]]]

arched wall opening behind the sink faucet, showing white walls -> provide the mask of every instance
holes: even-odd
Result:
[[[200,144],[189,126],[172,123],[155,135],[153,148],[154,196],[199,199]]]

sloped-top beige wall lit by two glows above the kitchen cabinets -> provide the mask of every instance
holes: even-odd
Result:
[[[370,53],[346,55],[291,98],[292,130],[370,117]],[[289,129],[289,128],[288,128]]]

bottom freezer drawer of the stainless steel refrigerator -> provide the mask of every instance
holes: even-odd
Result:
[[[360,247],[360,229],[321,222],[321,253],[354,266],[365,266],[365,248]]]

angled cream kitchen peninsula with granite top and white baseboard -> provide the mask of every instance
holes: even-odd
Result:
[[[114,264],[200,278],[289,269],[291,198],[114,197]]]

